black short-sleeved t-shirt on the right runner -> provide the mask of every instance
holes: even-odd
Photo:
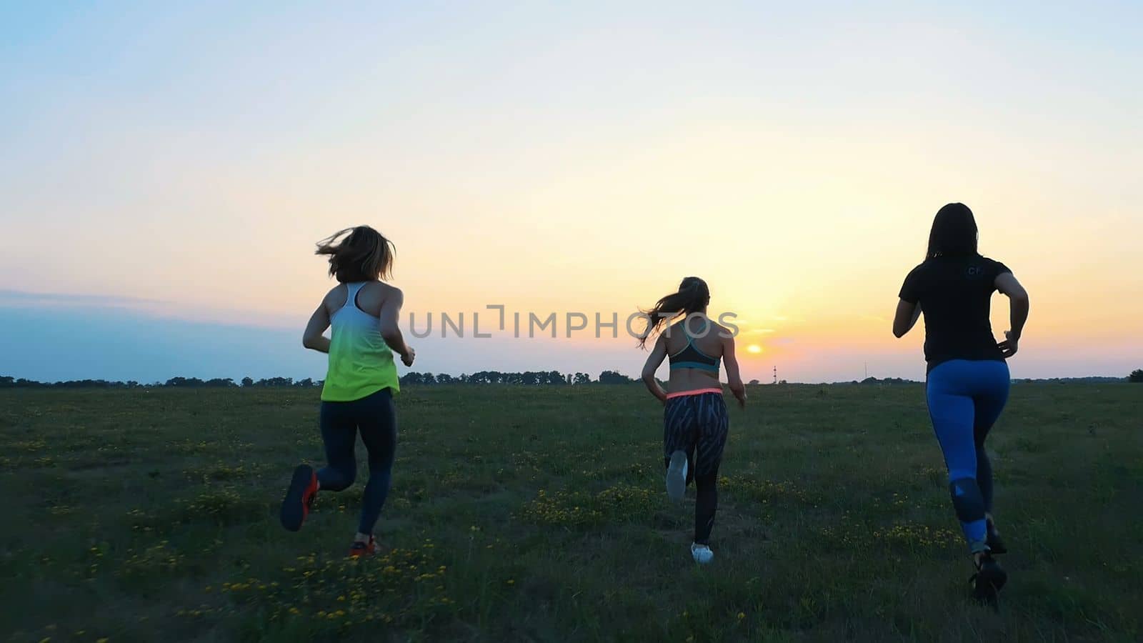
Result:
[[[919,302],[925,312],[929,371],[950,359],[1004,362],[989,315],[997,276],[1005,272],[1012,270],[984,256],[942,256],[926,260],[905,277],[901,299]]]

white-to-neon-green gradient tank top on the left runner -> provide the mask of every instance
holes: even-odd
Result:
[[[322,402],[353,402],[382,389],[400,390],[393,351],[381,336],[377,318],[357,305],[362,286],[345,284],[345,305],[329,318],[329,370]]]

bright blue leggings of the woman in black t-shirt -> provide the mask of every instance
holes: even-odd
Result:
[[[949,469],[949,493],[972,551],[985,550],[985,514],[992,511],[992,463],[984,438],[1008,402],[1008,365],[953,359],[928,374],[926,397]]]

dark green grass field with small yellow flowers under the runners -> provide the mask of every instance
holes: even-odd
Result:
[[[0,635],[1143,640],[1143,386],[1013,389],[990,438],[997,613],[967,600],[919,386],[750,395],[697,569],[639,386],[406,390],[386,551],[360,562],[360,484],[278,524],[291,467],[321,461],[315,391],[3,391]]]

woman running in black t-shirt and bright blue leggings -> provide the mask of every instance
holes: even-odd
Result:
[[[949,204],[936,213],[925,262],[901,287],[893,334],[902,338],[925,312],[926,397],[949,469],[949,492],[976,565],[974,596],[993,601],[1008,574],[993,558],[1007,549],[992,519],[992,466],[984,438],[1008,399],[1006,358],[1016,355],[1028,293],[1008,267],[981,256],[973,211]],[[1012,330],[997,342],[989,322],[992,293],[1008,296]]]

